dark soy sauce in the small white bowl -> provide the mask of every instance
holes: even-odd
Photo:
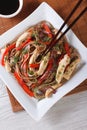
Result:
[[[10,15],[17,11],[19,0],[0,0],[0,14]]]

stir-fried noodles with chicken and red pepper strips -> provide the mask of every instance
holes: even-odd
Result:
[[[80,62],[79,53],[65,36],[44,57],[38,58],[57,31],[48,21],[41,21],[1,49],[2,65],[27,94],[37,99],[56,93]]]

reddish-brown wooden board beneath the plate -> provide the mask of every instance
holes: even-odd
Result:
[[[44,0],[24,0],[23,9],[20,12],[20,14],[10,19],[0,18],[0,35],[8,29],[10,29],[11,27],[15,26],[17,23],[21,22],[24,18],[31,14],[42,2],[44,2]],[[78,0],[45,0],[45,2],[51,5],[54,8],[54,10],[65,20],[69,12],[75,6],[76,2],[78,2]],[[80,11],[85,6],[87,6],[87,0],[83,0],[81,6],[76,11],[74,16],[71,18],[70,22],[68,22],[68,24],[72,22],[72,20],[80,13]],[[74,25],[72,30],[82,41],[82,43],[87,47],[87,12]],[[83,83],[81,83],[79,86],[77,86],[77,88],[75,88],[67,95],[78,93],[85,90],[87,90],[87,80],[85,80]],[[23,110],[23,107],[13,97],[11,92],[8,89],[7,91],[11,102],[12,110],[14,112]]]

